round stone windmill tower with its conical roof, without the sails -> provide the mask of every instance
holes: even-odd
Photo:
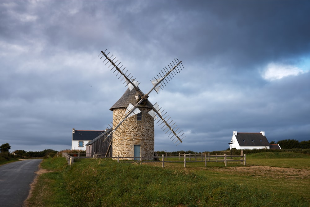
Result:
[[[113,111],[113,125],[122,120],[129,104],[137,104],[135,96],[137,92],[128,88],[110,108]],[[154,119],[148,114],[152,107],[142,102],[137,108],[140,113],[127,118],[117,132],[113,133],[113,155],[139,157],[141,153],[145,157],[154,156]]]

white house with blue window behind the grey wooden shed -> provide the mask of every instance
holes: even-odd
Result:
[[[104,133],[105,131],[90,131],[90,130],[75,130],[72,129],[72,150],[86,150],[86,144],[91,140],[98,137],[100,134]]]

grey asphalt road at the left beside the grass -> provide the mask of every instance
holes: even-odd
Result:
[[[1,207],[21,207],[42,160],[21,160],[0,165]]]

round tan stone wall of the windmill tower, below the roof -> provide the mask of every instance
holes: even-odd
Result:
[[[148,114],[149,108],[139,108],[142,120],[137,121],[137,115],[127,118],[113,133],[113,157],[134,157],[134,146],[140,145],[143,160],[153,160],[154,156],[154,119]],[[126,109],[113,110],[113,126],[122,119]],[[120,158],[121,159],[121,158]],[[133,158],[124,158],[133,160]]]

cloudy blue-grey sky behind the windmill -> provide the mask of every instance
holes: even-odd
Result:
[[[226,150],[232,132],[310,140],[310,2],[294,0],[0,1],[0,145],[71,149],[72,128],[103,130],[122,84],[107,49],[185,132],[155,122],[155,150]]]

